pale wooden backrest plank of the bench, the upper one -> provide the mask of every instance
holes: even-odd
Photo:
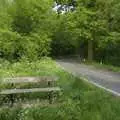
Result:
[[[4,83],[37,83],[41,81],[57,81],[58,77],[53,76],[41,76],[41,77],[17,77],[17,78],[5,78]]]

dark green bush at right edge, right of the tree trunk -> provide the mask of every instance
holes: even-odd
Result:
[[[104,37],[96,49],[96,59],[105,64],[120,66],[120,34],[112,32],[109,36]]]

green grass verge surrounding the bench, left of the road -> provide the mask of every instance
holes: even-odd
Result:
[[[120,120],[119,97],[72,76],[51,59],[3,62],[0,66],[1,81],[11,76],[57,75],[57,84],[63,89],[52,105],[33,102],[29,107],[1,107],[0,120]]]

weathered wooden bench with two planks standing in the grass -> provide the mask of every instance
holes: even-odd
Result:
[[[14,87],[16,84],[40,83],[40,82],[46,82],[48,87],[29,88],[29,89],[18,89],[18,88],[5,89],[0,92],[0,95],[9,95],[11,105],[13,105],[14,96],[16,94],[44,92],[44,93],[49,93],[48,94],[49,103],[52,103],[53,92],[59,92],[61,90],[60,87],[55,87],[53,84],[54,82],[57,81],[57,79],[58,78],[55,76],[5,78],[3,84],[10,84],[12,87]]]

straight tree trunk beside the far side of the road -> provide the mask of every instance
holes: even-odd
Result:
[[[88,40],[88,61],[93,61],[93,41]]]

